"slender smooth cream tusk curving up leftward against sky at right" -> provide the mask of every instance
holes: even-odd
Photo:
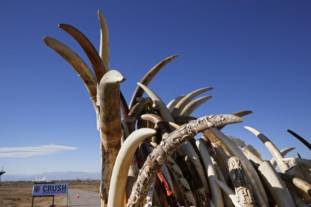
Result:
[[[279,166],[281,172],[284,173],[285,170],[289,168],[289,166],[288,164],[283,163],[281,161],[281,159],[284,157],[282,156],[281,152],[276,148],[276,146],[266,136],[264,136],[261,132],[257,131],[256,129],[252,127],[244,127],[244,128],[252,132],[254,135],[256,135],[262,141],[262,143],[266,145],[267,149],[270,151],[270,153],[276,160],[276,163]]]

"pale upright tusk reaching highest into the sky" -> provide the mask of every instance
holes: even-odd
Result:
[[[109,34],[105,16],[102,11],[98,10],[100,22],[100,48],[99,56],[104,63],[104,67],[109,71]]]

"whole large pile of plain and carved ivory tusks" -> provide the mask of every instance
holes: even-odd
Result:
[[[137,83],[129,106],[120,84],[123,74],[109,70],[106,20],[100,20],[100,51],[78,29],[59,27],[85,51],[93,71],[69,47],[51,37],[43,41],[78,73],[95,108],[100,131],[102,206],[309,206],[311,160],[284,158],[294,147],[278,150],[261,132],[245,127],[266,145],[270,161],[239,138],[224,135],[227,124],[242,122],[251,111],[191,117],[213,88],[180,95],[165,105],[147,86],[173,55],[159,62]],[[149,97],[142,98],[146,92]],[[121,119],[121,112],[123,119]],[[310,150],[311,145],[288,130]],[[202,133],[195,140],[194,136]],[[293,166],[289,166],[289,164]],[[276,171],[276,166],[281,173]]]

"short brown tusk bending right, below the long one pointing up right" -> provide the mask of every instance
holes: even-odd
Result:
[[[129,133],[132,133],[135,128],[135,123],[140,113],[152,102],[151,98],[142,99],[139,103],[135,104],[135,106],[131,109],[130,113],[128,113],[128,118],[126,119],[126,124],[128,125]]]

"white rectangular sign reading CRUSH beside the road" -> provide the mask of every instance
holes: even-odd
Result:
[[[68,193],[68,183],[34,184],[33,196],[65,195]]]

